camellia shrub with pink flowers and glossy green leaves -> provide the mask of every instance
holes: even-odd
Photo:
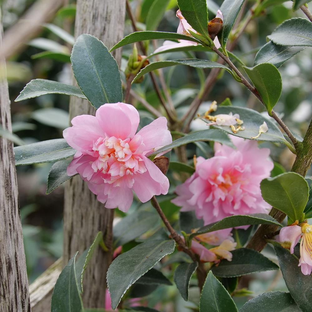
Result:
[[[152,30],[131,33],[110,50],[134,43],[124,70],[124,95],[110,51],[97,38],[83,34],[71,54],[79,87],[36,79],[18,96],[16,101],[60,93],[87,99],[96,109],[95,116],[73,118],[72,126],[63,131],[64,139],[23,145],[14,151],[17,165],[56,162],[47,193],[79,174],[106,208],[118,208],[120,215],[131,212],[114,227],[105,311],[158,311],[156,299],[153,307],[147,307],[141,297],[158,285],[172,285],[173,280],[185,301],[190,281],[198,287],[200,301],[194,311],[237,312],[232,297],[249,294],[237,289],[242,276],[279,269],[289,292],[265,292],[239,311],[311,311],[312,226],[307,219],[312,216],[312,181],[305,175],[312,160],[312,124],[302,139],[274,111],[282,91],[279,67],[312,46],[312,15],[305,1],[295,0],[293,8],[309,19],[295,17],[276,27],[259,48],[254,66],[243,65],[231,52],[233,42],[253,18],[282,2],[255,1],[238,21],[244,0],[224,0],[208,21],[211,1],[178,0],[177,32],[157,32],[149,25]],[[157,39],[163,44],[147,55],[149,42]],[[177,51],[190,57],[152,61],[154,56]],[[191,51],[209,52],[211,59],[196,58]],[[196,68],[203,79],[203,69],[211,69],[182,113],[167,88],[162,92],[157,85],[158,70],[177,65]],[[219,105],[213,101],[206,112],[197,114],[209,84],[224,72],[246,87],[267,114],[233,106],[229,99]],[[140,116],[128,103],[132,83],[142,82],[145,74],[151,76],[162,109],[141,103],[155,119]],[[190,132],[194,118],[205,129]],[[276,167],[270,149],[259,142],[284,144],[296,155],[291,171]],[[192,159],[187,144],[208,151],[206,157],[202,152]],[[207,156],[212,149],[214,155]],[[138,206],[139,202],[147,204]],[[173,217],[178,211],[179,220]],[[267,243],[274,246],[279,265],[260,253]],[[84,309],[83,274],[97,245],[106,250],[101,233],[90,249],[77,261],[73,256],[63,269],[53,291],[53,312]],[[164,267],[174,271],[171,281],[160,271]]]

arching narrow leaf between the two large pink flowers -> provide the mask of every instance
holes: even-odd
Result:
[[[154,151],[154,153],[152,154],[149,154],[149,156],[157,155],[158,153],[165,152],[168,149],[173,149],[175,147],[185,145],[188,143],[192,143],[192,142],[196,142],[196,141],[216,141],[221,144],[226,144],[234,148],[232,141],[229,139],[226,133],[217,129],[207,129],[207,130],[198,131],[198,132],[186,135],[180,139],[177,139],[173,141],[173,143],[166,145],[162,147],[161,149],[158,149],[157,151]]]

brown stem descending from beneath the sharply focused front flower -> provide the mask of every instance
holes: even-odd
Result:
[[[206,276],[207,276],[207,272],[206,272],[202,262],[199,261],[198,256],[191,249],[189,249],[185,245],[185,243],[182,240],[182,238],[180,237],[180,235],[173,229],[173,227],[171,226],[170,222],[167,220],[166,216],[164,215],[163,211],[161,210],[161,208],[160,208],[160,206],[159,206],[155,196],[152,197],[152,204],[153,204],[154,208],[156,209],[156,211],[158,212],[158,214],[161,217],[161,219],[163,220],[163,223],[167,227],[168,231],[170,232],[171,237],[176,241],[178,246],[186,254],[188,254],[192,258],[193,261],[197,261],[198,262],[198,267],[197,267],[198,287],[200,288],[200,291],[202,291],[202,287],[203,287],[203,285],[205,283]]]

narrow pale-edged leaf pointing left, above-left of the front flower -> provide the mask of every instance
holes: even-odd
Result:
[[[52,93],[73,95],[86,99],[81,93],[81,90],[73,85],[66,85],[65,83],[46,79],[35,79],[27,83],[25,88],[21,91],[21,94],[15,99],[15,102]]]

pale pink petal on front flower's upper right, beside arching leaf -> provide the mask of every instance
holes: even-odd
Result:
[[[172,137],[168,130],[167,119],[165,117],[159,117],[153,120],[150,124],[143,127],[137,135],[142,137],[146,150],[157,150],[160,147],[172,143]]]

